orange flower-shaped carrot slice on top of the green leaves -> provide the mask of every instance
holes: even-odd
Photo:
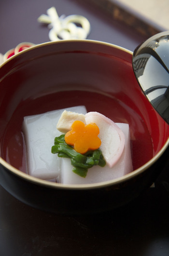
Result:
[[[99,127],[94,124],[84,125],[82,121],[74,121],[71,130],[65,134],[65,142],[72,145],[81,154],[88,150],[98,149],[101,141],[98,137]]]

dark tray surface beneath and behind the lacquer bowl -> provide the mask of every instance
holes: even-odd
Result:
[[[83,0],[0,1],[0,52],[49,41],[37,22],[55,6],[91,24],[88,39],[133,51],[147,38]],[[57,216],[31,208],[0,187],[0,256],[169,256],[169,172],[127,206],[91,216]]]

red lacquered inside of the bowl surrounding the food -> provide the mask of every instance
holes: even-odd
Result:
[[[132,53],[94,41],[29,48],[0,68],[0,157],[27,173],[23,117],[84,105],[130,127],[133,168],[151,160],[169,126],[135,79]]]

